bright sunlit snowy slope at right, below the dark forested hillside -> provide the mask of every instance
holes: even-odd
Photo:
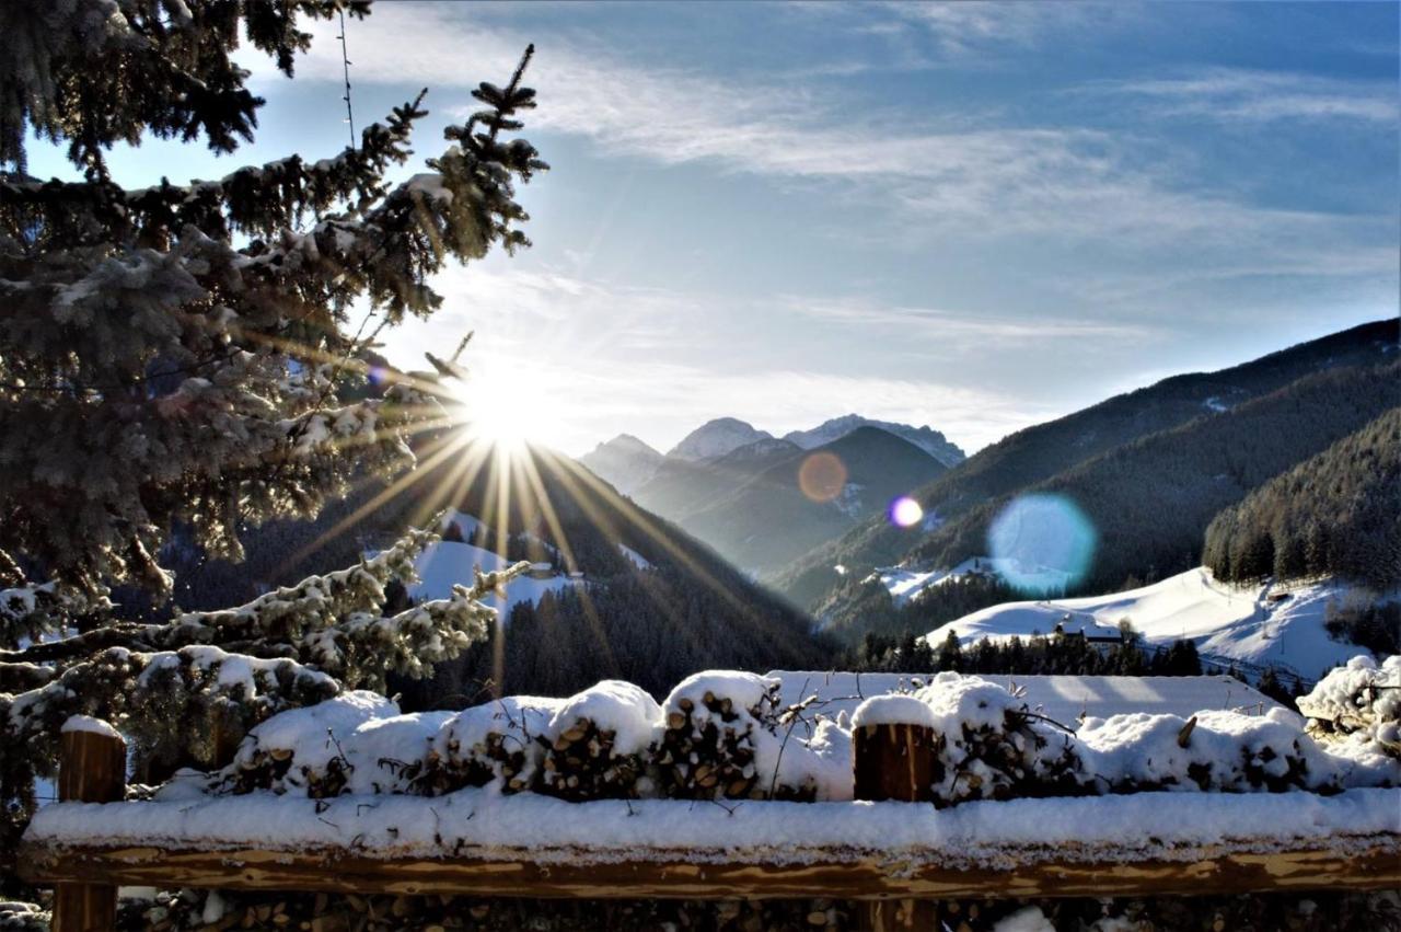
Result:
[[[1271,594],[1288,594],[1269,601]],[[1341,583],[1307,586],[1247,586],[1217,583],[1209,570],[1192,569],[1143,589],[1086,598],[1017,601],[975,611],[926,635],[940,643],[954,631],[964,643],[981,638],[1027,638],[1049,633],[1069,615],[1114,628],[1128,618],[1152,645],[1178,638],[1192,640],[1206,660],[1278,666],[1317,680],[1334,664],[1363,653],[1332,640],[1324,628],[1328,605],[1341,605],[1349,589]]]

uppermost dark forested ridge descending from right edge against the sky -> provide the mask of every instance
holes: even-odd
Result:
[[[946,526],[989,499],[1026,491],[1140,437],[1237,408],[1313,373],[1381,363],[1395,350],[1397,336],[1394,320],[1363,324],[1231,369],[1174,376],[1020,430],[922,488],[916,498],[929,516],[925,524],[899,528],[877,516],[799,558],[775,573],[772,582],[794,601],[814,610],[831,605],[836,589],[846,589],[850,600],[856,594],[853,582],[876,566],[897,563],[916,548],[925,554],[946,549],[950,540]],[[1283,429],[1292,430],[1288,425]],[[1309,453],[1313,450],[1303,455]],[[1150,486],[1142,486],[1140,492],[1143,503],[1156,495]],[[1161,510],[1150,512],[1149,520],[1156,523]],[[969,549],[978,548],[981,541]],[[1199,540],[1192,541],[1173,565],[1187,551],[1198,548]],[[842,566],[845,575],[835,572],[835,566]]]

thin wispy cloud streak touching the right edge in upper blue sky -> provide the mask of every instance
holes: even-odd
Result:
[[[1202,69],[1191,74],[1104,81],[1082,92],[1138,100],[1166,116],[1220,123],[1345,121],[1395,125],[1397,81],[1348,81],[1314,74]]]

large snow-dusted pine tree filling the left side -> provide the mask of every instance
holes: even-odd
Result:
[[[422,95],[321,161],[127,191],[105,151],[144,135],[231,151],[262,100],[230,53],[241,35],[291,76],[298,18],[361,0],[8,0],[0,6],[0,893],[3,863],[73,713],[113,722],[146,762],[213,765],[272,712],[423,674],[483,636],[478,598],[510,575],[385,617],[432,535],[247,605],[139,622],[109,598],[161,604],[172,527],[210,556],[238,528],[307,517],[354,477],[412,464],[441,426],[432,378],[342,402],[368,328],[426,317],[427,277],[493,245],[528,245],[514,185],[548,168],[523,139],[521,85],[446,130],[398,185]],[[66,143],[83,181],[25,174],[29,133]],[[373,314],[373,318],[368,317]]]

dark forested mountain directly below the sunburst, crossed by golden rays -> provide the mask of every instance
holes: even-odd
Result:
[[[420,465],[395,485],[361,484],[315,521],[251,528],[241,565],[189,548],[164,554],[179,572],[181,605],[238,604],[352,565],[448,507],[451,535],[462,540],[419,559],[423,582],[408,596],[469,580],[474,563],[489,566],[496,554],[542,565],[507,587],[510,615],[493,643],[443,664],[432,683],[396,685],[415,708],[471,702],[488,681],[507,694],[569,695],[623,678],[664,694],[696,670],[832,662],[834,646],[813,633],[811,618],[574,460],[447,436],[415,446]]]

